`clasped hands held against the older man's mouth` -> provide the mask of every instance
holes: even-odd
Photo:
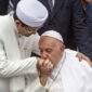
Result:
[[[53,69],[52,63],[49,60],[38,58],[37,69],[41,84],[45,86],[48,77],[50,77]]]

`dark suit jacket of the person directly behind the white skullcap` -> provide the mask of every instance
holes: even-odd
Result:
[[[49,11],[49,18],[39,34],[54,29],[63,36],[66,48],[76,50],[78,47],[80,52],[92,58],[92,38],[84,19],[81,0],[55,0],[53,12],[50,10],[48,0],[39,1]]]

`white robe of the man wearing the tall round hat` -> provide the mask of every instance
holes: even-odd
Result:
[[[12,13],[0,16],[0,92],[10,92],[10,89],[25,90],[25,84],[28,86],[30,82],[30,75],[34,75],[34,78],[38,77],[37,60],[30,58],[30,54],[39,54],[39,38],[38,34],[19,37]],[[13,77],[15,80],[12,80]]]

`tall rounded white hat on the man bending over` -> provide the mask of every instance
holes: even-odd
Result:
[[[37,27],[43,25],[48,18],[48,10],[38,0],[21,0],[16,15],[27,26]]]

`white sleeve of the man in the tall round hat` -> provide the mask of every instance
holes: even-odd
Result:
[[[3,45],[0,41],[0,77],[13,77],[37,73],[37,58],[28,57],[23,61],[6,60]]]

